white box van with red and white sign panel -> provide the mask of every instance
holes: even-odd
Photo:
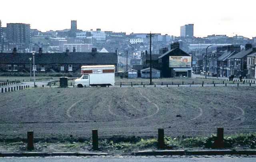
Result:
[[[75,80],[75,86],[114,86],[114,65],[92,65],[81,67],[82,76]]]

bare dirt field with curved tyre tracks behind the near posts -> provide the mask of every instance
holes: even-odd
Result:
[[[256,132],[256,88],[37,88],[0,94],[0,138]],[[180,115],[180,117],[177,117]]]

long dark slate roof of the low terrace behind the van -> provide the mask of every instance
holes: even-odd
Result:
[[[29,64],[32,53],[0,53],[0,64]],[[116,53],[39,53],[35,64],[117,64]]]

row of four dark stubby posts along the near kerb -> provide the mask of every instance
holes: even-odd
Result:
[[[28,150],[34,149],[34,131],[27,132],[27,143],[28,143]],[[213,143],[214,148],[223,148],[224,147],[224,129],[217,128],[217,137]],[[164,129],[158,129],[158,148],[164,149]],[[92,149],[98,150],[99,149],[99,138],[98,138],[98,129],[92,130]]]

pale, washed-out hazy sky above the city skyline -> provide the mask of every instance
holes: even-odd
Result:
[[[256,37],[256,0],[1,0],[0,20],[29,23],[40,31],[78,29],[180,36],[194,23],[194,36]]]

